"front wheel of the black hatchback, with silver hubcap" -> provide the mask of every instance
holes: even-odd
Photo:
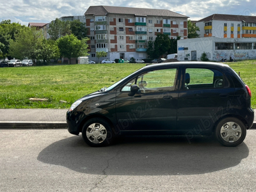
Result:
[[[91,147],[104,147],[113,142],[113,131],[103,118],[91,118],[82,129],[83,140]]]

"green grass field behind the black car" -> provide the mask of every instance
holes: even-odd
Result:
[[[256,108],[256,60],[228,63],[252,90]],[[69,108],[80,97],[110,86],[145,64],[55,65],[0,68],[0,108]],[[48,99],[33,102],[29,98]],[[63,102],[65,101],[65,102]]]

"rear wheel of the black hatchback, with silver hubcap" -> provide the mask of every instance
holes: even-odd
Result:
[[[244,141],[246,127],[241,120],[228,117],[218,123],[215,136],[222,145],[236,147]]]

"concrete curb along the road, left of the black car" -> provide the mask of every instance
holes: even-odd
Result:
[[[0,122],[0,129],[67,129],[67,122]]]

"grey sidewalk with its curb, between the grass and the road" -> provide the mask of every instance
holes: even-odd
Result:
[[[0,129],[66,129],[66,113],[67,109],[0,109]]]

